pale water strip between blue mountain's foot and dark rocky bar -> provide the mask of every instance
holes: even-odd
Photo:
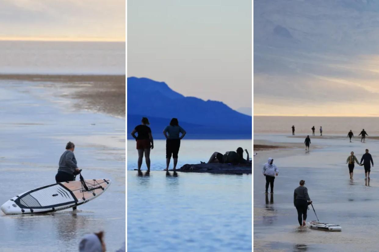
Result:
[[[187,133],[187,135],[190,133]],[[180,142],[180,149],[178,155],[177,168],[179,169],[185,164],[199,164],[200,161],[208,162],[210,156],[214,152],[225,153],[230,150],[236,150],[238,147],[247,149],[250,157],[251,140],[238,139],[238,140],[194,140],[194,139],[182,139]],[[138,152],[136,150],[136,141],[127,140],[127,169],[134,170],[138,168]],[[246,152],[244,153],[246,158]],[[151,170],[163,170],[166,169],[166,140],[154,140],[154,148],[150,152]],[[173,168],[173,161],[171,159],[170,169]],[[143,159],[141,169],[146,170],[145,159]]]

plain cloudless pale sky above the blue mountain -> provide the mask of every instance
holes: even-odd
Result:
[[[251,0],[128,0],[127,76],[251,107]]]

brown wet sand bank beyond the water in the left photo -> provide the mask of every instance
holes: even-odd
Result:
[[[36,82],[55,90],[55,96],[75,99],[78,110],[125,117],[125,75],[2,74],[0,80]]]

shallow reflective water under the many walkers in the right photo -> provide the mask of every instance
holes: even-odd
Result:
[[[284,135],[256,134],[254,139],[277,142],[303,142]],[[312,138],[311,138],[312,139]],[[346,158],[351,151],[360,160],[370,149],[374,164],[378,160],[378,141],[330,137],[312,139],[322,148],[269,150],[254,158],[254,248],[257,251],[377,251],[376,230],[379,220],[379,176],[371,168],[371,181],[364,180],[363,167],[355,165],[350,181]],[[266,195],[262,167],[267,158],[279,167],[274,194]],[[320,221],[339,224],[342,232],[324,232],[298,227],[293,206],[293,190],[305,180]],[[307,221],[316,220],[310,207]]]

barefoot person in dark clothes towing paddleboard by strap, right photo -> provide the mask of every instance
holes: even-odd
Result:
[[[307,220],[308,205],[312,203],[308,195],[308,189],[304,186],[305,181],[300,181],[300,186],[296,187],[293,193],[293,204],[298,210],[298,221],[300,226],[305,226]]]

